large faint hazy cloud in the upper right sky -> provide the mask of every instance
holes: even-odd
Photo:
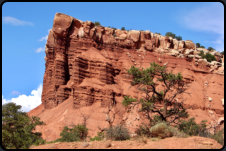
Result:
[[[185,27],[215,34],[215,40],[205,42],[211,43],[217,51],[224,50],[224,8],[221,3],[213,3],[191,11],[184,11],[180,16],[180,22]]]

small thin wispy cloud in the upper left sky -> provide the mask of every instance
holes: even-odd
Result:
[[[15,25],[15,26],[18,26],[18,25],[29,25],[29,26],[34,26],[34,24],[31,23],[31,22],[22,21],[22,20],[19,20],[19,19],[10,17],[10,16],[2,17],[2,21],[3,21],[3,23],[5,23],[5,24],[12,24],[12,25]]]

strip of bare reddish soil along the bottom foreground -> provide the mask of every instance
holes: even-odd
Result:
[[[111,147],[106,147],[107,143]],[[85,144],[89,144],[88,146]],[[86,147],[84,147],[86,146]],[[32,146],[31,149],[222,149],[223,146],[217,141],[204,137],[188,138],[165,138],[152,141],[147,138],[147,143],[141,139],[132,139],[127,141],[93,141],[93,142],[70,142],[70,143],[52,143],[39,146]]]

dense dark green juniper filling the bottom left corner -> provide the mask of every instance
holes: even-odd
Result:
[[[41,133],[32,132],[37,125],[44,125],[39,117],[29,117],[15,103],[2,105],[2,147],[28,149],[32,144],[44,143]]]

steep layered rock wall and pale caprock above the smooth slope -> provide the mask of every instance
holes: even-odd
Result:
[[[104,60],[92,60],[92,58],[89,60],[87,56],[83,56],[82,53],[90,48],[99,50]],[[45,108],[57,106],[70,95],[73,95],[76,102],[77,95],[75,91],[73,93],[71,91],[77,89],[85,78],[97,78],[105,84],[114,84],[114,77],[121,69],[115,68],[114,64],[105,60],[117,62],[120,54],[125,51],[123,49],[134,52],[140,50],[144,53],[154,51],[184,57],[188,61],[195,60],[195,65],[205,69],[215,67],[216,70],[222,66],[222,63],[216,61],[208,63],[195,55],[198,50],[191,40],[178,41],[150,31],[114,30],[100,25],[95,26],[90,21],[83,22],[62,13],[56,13],[45,51],[46,70],[42,93]],[[213,54],[219,56],[218,53]],[[92,52],[90,51],[88,55],[92,56]],[[69,81],[73,84],[66,87]]]

